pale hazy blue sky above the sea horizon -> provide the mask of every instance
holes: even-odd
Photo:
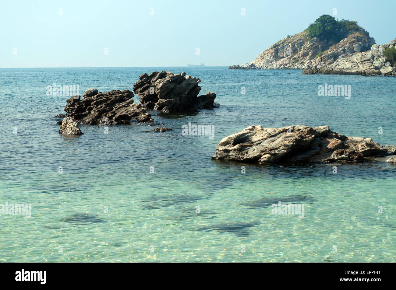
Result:
[[[1,68],[249,63],[322,14],[357,21],[378,44],[396,37],[396,0],[2,0],[0,6]]]

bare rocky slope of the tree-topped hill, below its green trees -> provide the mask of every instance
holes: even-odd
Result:
[[[346,32],[338,43],[308,38],[304,31],[287,37],[260,53],[251,63],[232,65],[229,69],[305,69],[324,66],[356,52],[369,51],[374,38],[360,27],[358,31]]]

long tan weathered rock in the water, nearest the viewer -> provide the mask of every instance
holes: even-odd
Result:
[[[268,163],[360,162],[365,157],[390,155],[394,146],[371,138],[348,137],[328,126],[264,128],[249,126],[223,138],[212,159]]]

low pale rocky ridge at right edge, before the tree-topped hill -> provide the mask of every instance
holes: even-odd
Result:
[[[396,76],[396,67],[386,61],[382,54],[387,47],[395,47],[396,39],[389,44],[374,44],[368,51],[341,55],[333,62],[303,70],[303,74],[359,74],[362,76]]]

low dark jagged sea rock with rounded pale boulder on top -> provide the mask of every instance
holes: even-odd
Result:
[[[97,89],[88,89],[81,96],[67,100],[65,111],[68,116],[85,125],[129,124],[131,119],[138,122],[153,122],[151,114],[140,104],[133,102],[133,93],[129,90],[113,90],[98,93]]]

